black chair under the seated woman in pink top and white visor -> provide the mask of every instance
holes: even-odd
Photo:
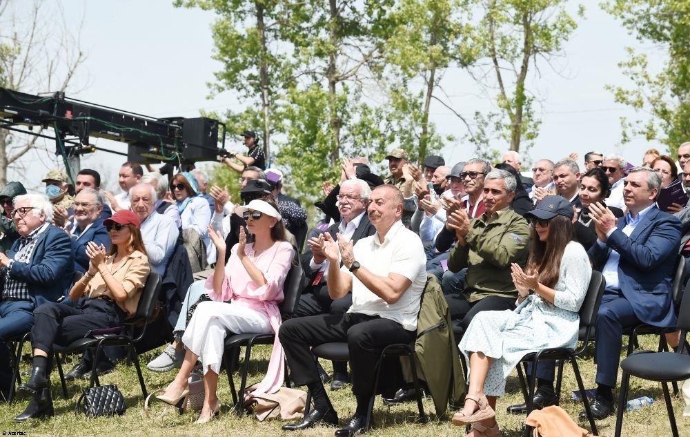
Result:
[[[299,258],[298,258],[299,259]],[[302,266],[293,264],[290,266],[290,271],[285,278],[283,286],[283,302],[280,303],[280,314],[283,320],[287,320],[293,316],[295,309],[297,309],[297,302],[299,302],[299,295],[302,292]],[[228,373],[228,383],[230,385],[230,393],[233,395],[233,403],[237,413],[242,412],[242,403],[244,402],[244,390],[247,386],[247,376],[249,374],[249,362],[252,353],[252,347],[256,344],[273,344],[275,341],[275,333],[242,333],[231,334],[225,339],[225,351],[223,353],[224,367]],[[239,392],[235,390],[235,381],[233,381],[234,359],[239,347],[245,347],[244,363],[242,365],[242,382],[239,385]],[[285,375],[287,376],[287,367]],[[239,393],[239,396],[238,396]]]

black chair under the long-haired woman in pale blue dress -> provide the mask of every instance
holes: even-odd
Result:
[[[522,385],[522,391],[525,395],[525,402],[527,405],[527,415],[529,415],[533,409],[532,401],[534,396],[535,382],[537,379],[537,364],[540,361],[558,361],[558,383],[556,387],[556,393],[560,394],[560,382],[562,379],[563,372],[563,362],[569,361],[573,365],[573,372],[575,373],[575,379],[578,381],[578,388],[580,389],[580,397],[582,398],[582,403],[584,403],[584,411],[586,411],[587,419],[589,419],[589,425],[592,428],[592,434],[598,434],[597,425],[594,423],[594,417],[592,416],[592,411],[589,407],[589,400],[587,399],[586,392],[584,390],[584,384],[582,383],[582,376],[580,376],[580,369],[578,367],[577,357],[582,353],[587,344],[589,344],[589,338],[597,322],[597,315],[599,312],[599,305],[602,300],[602,295],[604,295],[604,288],[606,284],[604,277],[598,271],[592,272],[591,280],[589,281],[589,288],[587,289],[587,294],[582,302],[582,307],[580,307],[580,338],[582,344],[578,349],[570,349],[568,347],[553,347],[549,349],[542,349],[541,351],[535,353],[528,353],[526,356],[522,357],[522,362],[531,362],[532,372],[529,378],[529,390],[525,391],[524,376],[522,375],[522,369],[520,365],[517,365],[517,375],[520,378],[520,384]],[[584,332],[583,332],[584,331]],[[525,425],[524,436],[529,437],[531,427]]]

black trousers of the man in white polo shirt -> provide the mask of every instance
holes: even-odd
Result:
[[[345,313],[287,320],[281,325],[278,338],[295,385],[321,382],[311,347],[347,342],[353,394],[358,398],[370,398],[374,394],[375,369],[381,351],[388,344],[412,342],[415,331],[408,331],[400,323],[378,315]]]

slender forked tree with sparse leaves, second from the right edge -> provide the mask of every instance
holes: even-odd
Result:
[[[538,135],[535,95],[528,89],[538,59],[550,64],[577,27],[565,0],[467,0],[475,17],[473,43],[480,59],[468,70],[487,93],[497,90],[497,113],[475,114],[475,142],[488,142],[491,131],[519,151]],[[584,10],[578,9],[582,16]],[[477,15],[479,17],[477,17]],[[527,144],[524,144],[526,142]],[[481,144],[486,146],[487,144]]]

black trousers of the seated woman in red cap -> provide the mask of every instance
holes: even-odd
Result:
[[[79,308],[50,302],[34,310],[31,338],[34,349],[52,352],[53,344],[68,345],[86,337],[92,329],[124,323],[125,313],[112,300],[88,299]]]

